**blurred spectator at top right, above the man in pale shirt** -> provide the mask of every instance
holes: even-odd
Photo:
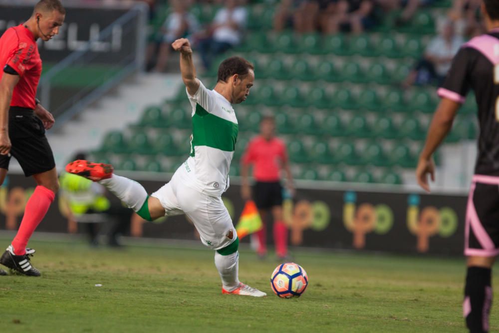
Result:
[[[456,32],[462,36],[473,37],[484,31],[480,23],[480,4],[482,0],[455,0],[449,10],[449,18],[456,26]]]

